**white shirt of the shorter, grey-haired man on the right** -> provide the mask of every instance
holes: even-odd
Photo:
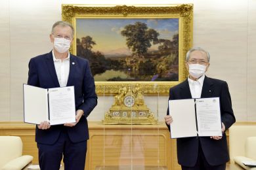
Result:
[[[194,81],[188,76],[188,84],[192,98],[201,98],[204,78],[205,75],[202,75],[198,80]]]

